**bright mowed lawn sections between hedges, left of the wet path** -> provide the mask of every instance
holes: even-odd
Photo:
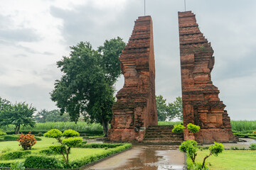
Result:
[[[38,153],[41,149],[48,149],[50,145],[58,145],[57,140],[53,138],[47,138],[47,137],[40,137],[42,140],[37,141],[36,145],[34,145],[31,149],[32,154],[33,153]],[[22,150],[21,146],[18,146],[18,142],[16,141],[7,141],[7,142],[0,142],[0,153],[3,150],[8,150],[8,151],[15,151],[15,150]],[[71,148],[71,152],[69,154],[70,161],[75,160],[75,159],[82,159],[83,157],[90,157],[93,154],[101,154],[104,152],[104,148]],[[63,159],[63,156],[58,154],[58,155],[53,155],[50,157],[58,157],[60,159]],[[24,159],[15,159],[15,160],[0,160],[0,162],[21,162],[24,161]]]

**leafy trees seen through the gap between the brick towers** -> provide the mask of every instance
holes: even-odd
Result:
[[[177,97],[174,103],[166,103],[163,96],[156,96],[156,110],[159,121],[173,120],[174,118],[183,120],[181,97]]]

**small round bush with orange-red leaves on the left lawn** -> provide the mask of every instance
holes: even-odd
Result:
[[[34,135],[31,135],[31,132],[28,132],[27,135],[21,133],[21,135],[19,135],[18,142],[20,142],[18,146],[21,146],[24,150],[27,150],[31,149],[33,145],[36,145],[36,138]]]

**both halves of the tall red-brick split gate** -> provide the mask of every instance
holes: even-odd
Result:
[[[210,42],[199,30],[191,11],[178,12],[178,29],[183,124],[193,123],[201,127],[195,135],[185,130],[183,139],[201,143],[235,141],[225,105],[218,98],[219,90],[211,81],[214,57]],[[117,103],[112,107],[113,118],[108,138],[113,141],[143,142],[146,129],[157,128],[151,16],[142,16],[135,21],[132,35],[119,60],[124,86],[118,91]]]

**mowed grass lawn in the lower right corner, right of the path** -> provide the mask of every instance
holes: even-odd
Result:
[[[203,162],[207,154],[208,150],[199,151],[196,162]],[[256,151],[225,150],[218,157],[208,157],[206,162],[210,170],[256,170]]]

